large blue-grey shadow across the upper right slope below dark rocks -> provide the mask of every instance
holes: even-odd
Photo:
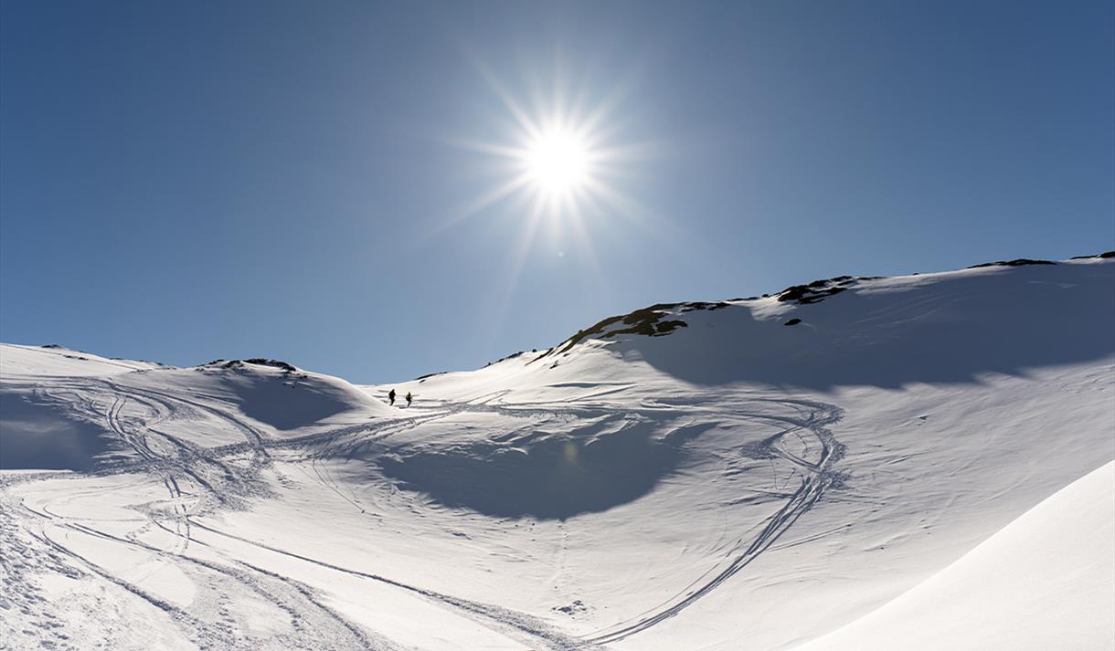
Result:
[[[971,382],[1115,353],[1115,264],[925,281],[908,291],[847,291],[763,321],[744,305],[691,312],[688,328],[612,350],[697,385],[822,390]],[[792,317],[802,322],[784,327]]]

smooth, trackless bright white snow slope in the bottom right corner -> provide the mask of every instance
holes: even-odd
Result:
[[[918,587],[802,651],[1104,649],[1115,639],[1113,548],[1115,463],[1108,463]]]

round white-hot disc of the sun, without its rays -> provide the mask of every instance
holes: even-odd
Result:
[[[560,197],[584,188],[591,177],[592,152],[584,138],[568,129],[539,133],[524,148],[524,172],[535,190]]]

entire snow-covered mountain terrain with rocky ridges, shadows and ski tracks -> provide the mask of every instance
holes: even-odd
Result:
[[[0,380],[4,648],[1115,649],[1112,254],[391,386],[12,344]]]

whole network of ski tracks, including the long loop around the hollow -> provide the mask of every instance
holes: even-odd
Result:
[[[568,415],[579,418],[615,415],[638,417],[643,415],[661,418],[663,415],[699,415],[701,411],[708,409],[708,407],[702,407],[699,401],[695,400],[687,405],[682,405],[681,401],[678,405],[663,402],[643,404],[641,408],[637,409],[632,409],[630,406],[612,406],[604,402],[590,402],[589,400],[584,400],[580,406],[571,406],[569,404],[504,404],[501,399],[508,391],[496,391],[467,401],[443,401],[433,407],[416,409],[417,414],[405,414],[403,417],[396,419],[339,427],[330,431],[280,440],[269,438],[253,425],[234,414],[166,391],[151,388],[140,389],[100,378],[55,378],[55,380],[57,381],[46,385],[41,378],[38,378],[32,388],[42,396],[68,402],[71,407],[77,407],[90,418],[99,416],[108,430],[135,454],[133,459],[114,460],[105,464],[97,474],[143,473],[157,478],[166,488],[167,504],[172,506],[171,513],[173,513],[173,516],[164,517],[166,514],[165,508],[154,508],[154,505],[148,505],[152,506],[146,513],[149,522],[139,531],[133,531],[122,537],[100,531],[95,525],[83,524],[72,518],[52,514],[47,507],[43,507],[43,511],[39,512],[23,506],[21,512],[26,516],[39,521],[38,526],[35,527],[38,532],[32,533],[33,538],[42,543],[45,552],[51,554],[52,557],[66,558],[70,561],[71,566],[77,566],[85,572],[99,575],[138,595],[159,610],[167,612],[174,621],[182,624],[181,628],[187,632],[187,637],[203,648],[252,648],[254,642],[250,639],[237,638],[234,621],[229,616],[227,611],[222,611],[222,613],[219,613],[217,621],[212,621],[213,618],[206,619],[205,616],[190,612],[190,609],[183,609],[161,600],[137,585],[114,575],[108,570],[97,565],[94,561],[74,552],[67,547],[64,537],[54,536],[48,533],[50,527],[77,532],[83,535],[94,536],[103,541],[127,545],[155,554],[167,563],[178,564],[182,567],[190,569],[192,573],[205,576],[206,579],[201,581],[201,584],[204,586],[203,590],[211,590],[215,594],[229,593],[230,591],[249,591],[261,595],[268,602],[277,604],[288,613],[292,622],[294,638],[287,639],[285,641],[294,643],[297,640],[297,643],[303,648],[320,648],[321,645],[321,639],[299,638],[299,635],[309,634],[308,632],[310,631],[313,632],[313,635],[317,635],[319,631],[331,631],[326,638],[330,640],[330,644],[336,643],[342,648],[389,649],[391,648],[391,643],[387,640],[369,637],[369,633],[365,632],[359,625],[347,621],[337,612],[324,606],[314,596],[312,589],[295,581],[284,579],[244,561],[229,558],[225,554],[221,555],[226,558],[227,564],[202,561],[191,556],[188,553],[191,545],[211,547],[195,540],[192,535],[194,528],[234,538],[255,547],[281,554],[288,558],[311,563],[320,567],[377,581],[407,591],[427,601],[449,608],[458,614],[531,648],[556,650],[589,649],[624,640],[677,615],[740,572],[763,552],[768,550],[779,536],[793,526],[794,522],[822,499],[825,492],[838,480],[838,475],[833,470],[833,465],[843,455],[843,446],[835,440],[827,429],[828,425],[836,422],[843,416],[843,411],[833,405],[806,400],[756,399],[754,404],[759,406],[760,409],[743,412],[734,411],[736,416],[743,418],[765,420],[784,427],[782,431],[758,445],[744,446],[740,454],[749,458],[779,457],[789,461],[802,473],[801,485],[788,496],[782,507],[767,519],[758,535],[736,541],[731,552],[715,569],[706,572],[682,592],[633,619],[619,622],[591,634],[571,635],[561,632],[534,615],[504,606],[478,603],[408,585],[379,574],[346,569],[318,558],[266,545],[259,541],[251,541],[222,532],[213,526],[196,522],[194,518],[230,503],[239,504],[244,498],[266,496],[269,490],[265,483],[259,477],[259,474],[261,469],[270,466],[271,450],[273,449],[290,451],[301,449],[309,453],[311,448],[316,447],[314,451],[307,454],[303,458],[303,460],[309,461],[311,476],[332,490],[340,499],[351,505],[352,508],[367,514],[368,509],[360,504],[357,496],[351,492],[345,494],[338,483],[329,475],[326,466],[319,464],[319,460],[351,455],[361,447],[375,445],[399,431],[459,414],[495,412],[518,418],[549,417],[554,415]],[[610,388],[585,398],[601,398],[624,389],[626,387]],[[774,415],[769,412],[770,407],[788,407],[796,415]],[[715,407],[712,408],[715,409]],[[738,408],[738,405],[734,405],[734,408]],[[158,429],[161,422],[176,417],[190,417],[192,414],[202,414],[224,421],[234,431],[243,436],[243,443],[203,448]],[[804,431],[809,433],[815,437],[817,444],[820,444],[820,453],[813,460],[804,459],[783,447],[783,441],[786,437],[799,437]],[[246,468],[241,465],[227,463],[229,458],[244,456],[248,456],[250,459]],[[193,493],[184,492],[182,488],[183,485],[191,487]],[[7,515],[10,517],[13,514],[8,513]],[[172,548],[163,550],[142,542],[139,535],[151,527],[158,527],[172,534],[178,541],[178,544]],[[10,532],[10,527],[2,531]],[[11,536],[6,534],[6,546],[9,544],[9,541],[11,541]],[[18,575],[16,576],[18,579]],[[11,579],[11,576],[8,576],[8,579]],[[22,593],[23,590],[26,590],[26,586],[12,592]],[[28,590],[27,592],[29,594],[35,593],[33,590]],[[317,614],[313,615],[312,613]],[[303,622],[302,620],[306,618],[310,618],[313,621]],[[327,648],[332,647],[327,644]]]

